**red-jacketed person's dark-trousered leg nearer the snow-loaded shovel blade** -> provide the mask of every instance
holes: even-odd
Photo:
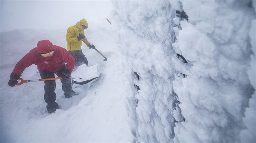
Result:
[[[64,95],[66,98],[72,97],[75,93],[72,90],[71,85],[71,78],[70,76],[65,76],[66,71],[66,65],[63,65],[59,71],[57,71],[55,74],[59,77],[61,77],[61,83],[62,83],[62,90],[64,91]]]

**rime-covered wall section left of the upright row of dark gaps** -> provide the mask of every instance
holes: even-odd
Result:
[[[138,142],[172,142],[174,138],[172,89],[176,56],[169,1],[113,1],[117,40],[131,70],[134,94],[128,96],[130,125]],[[135,74],[137,73],[137,75]],[[134,88],[136,86],[137,88]],[[139,89],[137,91],[137,89]]]

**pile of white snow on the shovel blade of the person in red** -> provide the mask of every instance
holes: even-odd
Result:
[[[87,67],[87,65],[82,64],[72,72],[71,76],[75,84],[87,84],[98,78],[98,66],[92,65]]]

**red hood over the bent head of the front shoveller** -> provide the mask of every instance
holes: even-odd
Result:
[[[37,53],[49,53],[50,51],[54,50],[52,42],[49,40],[41,40],[37,43]]]

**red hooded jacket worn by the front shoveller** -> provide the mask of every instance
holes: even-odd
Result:
[[[48,53],[54,50],[51,57],[43,57],[40,53]],[[37,65],[38,69],[50,72],[58,71],[65,63],[66,68],[73,71],[75,59],[68,53],[65,48],[52,45],[49,40],[42,40],[37,43],[37,47],[29,51],[13,69],[13,74],[21,75],[23,71],[32,64]]]

